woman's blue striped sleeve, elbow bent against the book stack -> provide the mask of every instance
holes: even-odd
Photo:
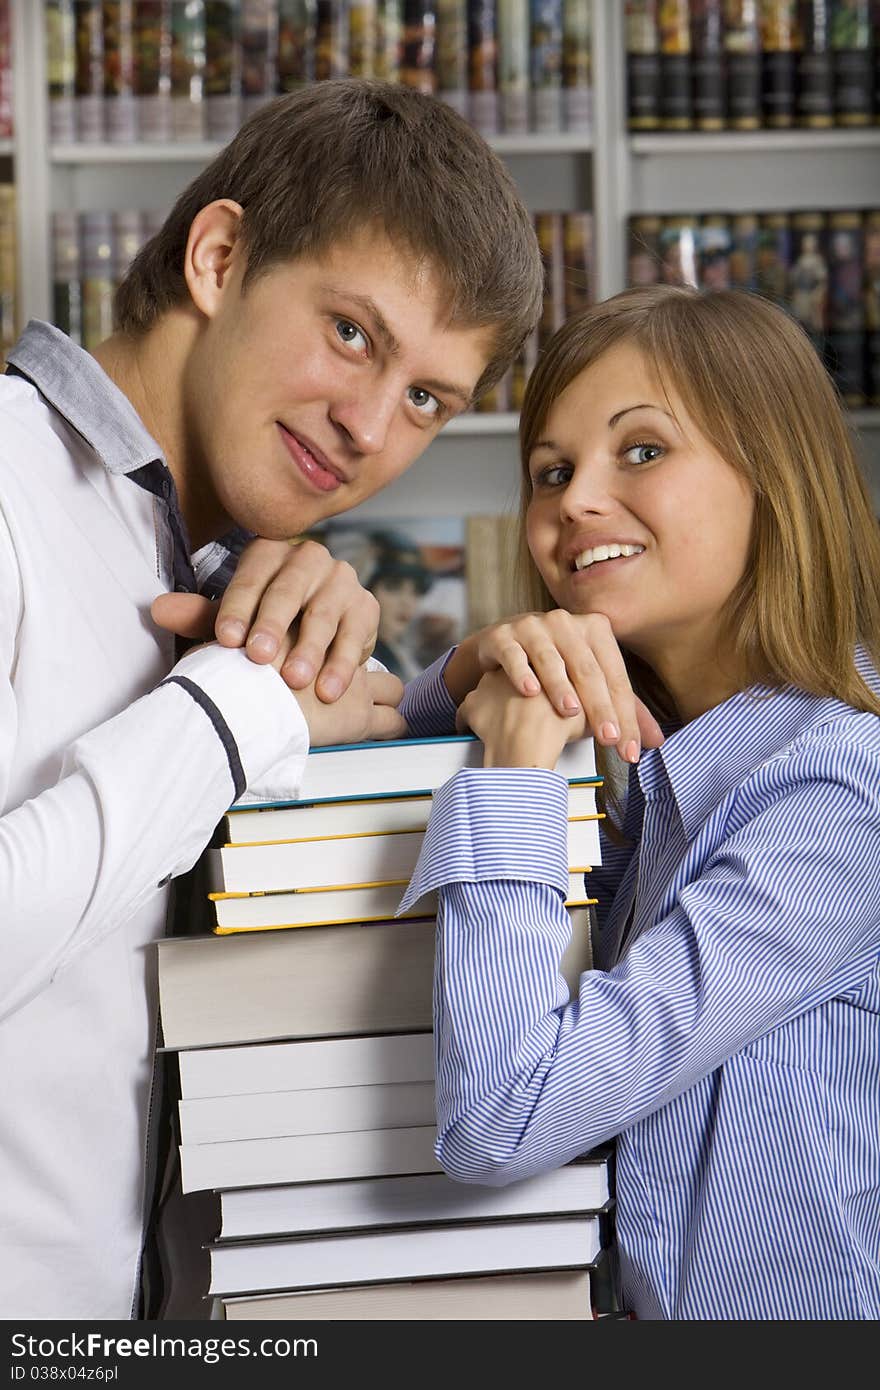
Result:
[[[866,986],[880,954],[880,759],[852,748],[842,770],[831,762],[815,748],[780,759],[763,808],[733,817],[671,908],[570,1002],[567,915],[534,821],[510,812],[500,833],[500,795],[531,809],[532,773],[459,774],[466,795],[446,784],[410,894],[439,887],[437,1154],[450,1176],[503,1184],[557,1168]],[[557,799],[542,819],[564,834]]]

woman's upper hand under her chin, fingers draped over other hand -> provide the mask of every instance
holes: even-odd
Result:
[[[637,763],[642,746],[659,748],[663,742],[660,726],[630,685],[612,626],[602,613],[520,613],[474,632],[443,671],[456,705],[462,706],[488,671],[503,671],[513,691],[525,699],[544,694],[562,719],[584,717],[592,737],[616,748],[627,762]]]

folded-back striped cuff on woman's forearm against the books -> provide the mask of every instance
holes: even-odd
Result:
[[[398,912],[449,883],[516,878],[569,895],[569,785],[542,767],[467,767],[434,794]]]

